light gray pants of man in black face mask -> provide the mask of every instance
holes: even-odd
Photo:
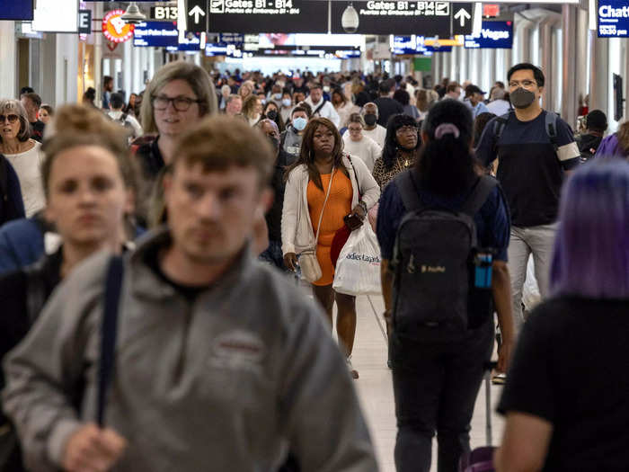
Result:
[[[556,232],[556,223],[540,227],[511,227],[509,263],[507,265],[511,277],[513,317],[517,333],[524,323],[522,287],[527,279],[528,257],[533,254],[539,294],[544,299],[548,296],[548,281]]]

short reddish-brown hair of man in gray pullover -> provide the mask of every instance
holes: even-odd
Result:
[[[258,129],[244,120],[226,115],[210,116],[182,135],[173,157],[173,169],[180,163],[200,164],[203,171],[223,172],[230,167],[253,167],[261,188],[270,180],[275,153]]]

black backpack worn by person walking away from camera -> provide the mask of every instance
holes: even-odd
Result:
[[[474,215],[498,182],[479,177],[459,211],[426,206],[412,170],[395,178],[407,212],[397,231],[394,271],[394,335],[417,342],[448,343],[477,325],[470,314],[492,313],[491,279],[474,288],[479,261],[487,271],[489,249],[478,247]],[[479,257],[482,256],[482,257]]]

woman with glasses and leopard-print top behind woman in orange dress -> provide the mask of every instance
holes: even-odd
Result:
[[[381,191],[397,174],[415,165],[420,145],[420,129],[412,116],[399,114],[389,119],[385,147],[374,165],[374,178]]]

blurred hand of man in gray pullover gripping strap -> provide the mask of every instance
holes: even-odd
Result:
[[[117,432],[88,423],[67,440],[62,466],[66,472],[106,472],[126,448],[127,441]]]

